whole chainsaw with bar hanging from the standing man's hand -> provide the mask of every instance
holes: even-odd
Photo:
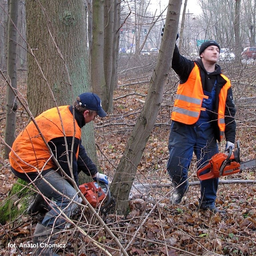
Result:
[[[256,166],[256,159],[240,162],[240,146],[237,142],[237,148],[232,152],[232,148],[228,148],[228,154],[217,153],[209,161],[208,164],[197,170],[197,177],[200,180],[218,178],[230,174],[235,174],[241,170]],[[209,172],[205,170],[209,169]]]

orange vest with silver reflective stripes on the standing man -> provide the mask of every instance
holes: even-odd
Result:
[[[220,139],[222,139],[225,131],[225,104],[228,89],[231,87],[229,79],[220,74],[226,80],[225,85],[219,93],[218,105],[218,127],[220,130]],[[171,119],[183,124],[194,124],[198,121],[202,108],[203,99],[208,99],[204,95],[199,67],[195,64],[188,80],[184,84],[179,84],[176,99],[172,110]]]

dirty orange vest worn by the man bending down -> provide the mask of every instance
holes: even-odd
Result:
[[[47,143],[54,138],[64,136],[75,136],[81,139],[81,128],[68,108],[69,106],[59,107],[60,114],[56,107],[51,108],[35,118]],[[76,157],[78,157],[78,152],[76,152]],[[32,121],[15,139],[9,159],[12,168],[21,173],[56,168],[48,147]]]

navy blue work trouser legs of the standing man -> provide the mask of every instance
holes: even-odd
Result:
[[[206,118],[207,119],[207,118]],[[167,171],[177,192],[183,196],[188,189],[188,169],[193,152],[197,158],[197,168],[208,163],[208,160],[218,153],[218,145],[214,136],[211,122],[204,118],[194,125],[186,125],[172,121],[169,136],[169,160]],[[209,170],[206,170],[207,172]],[[200,207],[214,207],[218,189],[218,178],[200,181],[201,197]]]

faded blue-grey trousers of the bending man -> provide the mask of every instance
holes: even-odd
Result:
[[[65,215],[70,217],[77,207],[76,203],[82,200],[75,188],[57,171],[50,170],[43,177],[45,180],[38,178],[35,180],[35,185],[44,196],[52,200],[52,204],[51,210],[46,213],[42,221],[42,225],[54,225],[56,228],[63,228],[66,222]]]

